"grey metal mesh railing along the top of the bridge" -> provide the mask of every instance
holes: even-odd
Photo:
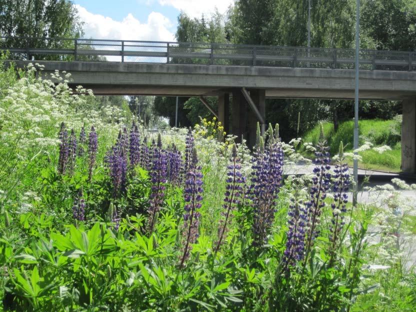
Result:
[[[0,37],[11,58],[352,69],[354,49],[106,39]],[[416,70],[416,51],[359,52],[360,69]]]

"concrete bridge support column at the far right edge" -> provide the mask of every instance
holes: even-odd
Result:
[[[401,172],[416,174],[416,97],[404,99],[401,124]]]

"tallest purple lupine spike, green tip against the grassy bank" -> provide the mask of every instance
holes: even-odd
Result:
[[[323,133],[322,123],[320,124],[320,136],[315,151],[315,159],[313,163],[316,165],[313,168],[314,176],[312,177],[312,185],[310,187],[309,200],[306,202],[306,208],[308,210],[308,230],[307,230],[307,242],[306,242],[306,257],[313,240],[318,236],[319,230],[317,225],[320,222],[320,215],[322,208],[325,206],[324,199],[326,198],[326,192],[330,187],[331,174],[330,170],[330,158],[328,147],[326,146],[326,139]]]

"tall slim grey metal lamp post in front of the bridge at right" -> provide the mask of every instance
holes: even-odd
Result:
[[[354,150],[358,148],[358,87],[359,87],[359,0],[356,0],[355,13],[355,105],[354,105]],[[356,155],[357,152],[354,151]],[[358,159],[354,159],[354,191],[352,195],[352,204],[357,204],[358,192]]]

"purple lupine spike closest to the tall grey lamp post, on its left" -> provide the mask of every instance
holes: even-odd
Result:
[[[346,212],[346,203],[348,202],[348,195],[346,192],[348,191],[350,184],[348,164],[344,162],[342,141],[339,144],[338,158],[339,164],[335,164],[335,168],[333,169],[333,177],[335,180],[333,182],[333,202],[331,203],[332,225],[329,227],[329,241],[331,242],[332,258],[334,256],[333,253],[337,248],[339,234],[345,224],[344,213]]]

